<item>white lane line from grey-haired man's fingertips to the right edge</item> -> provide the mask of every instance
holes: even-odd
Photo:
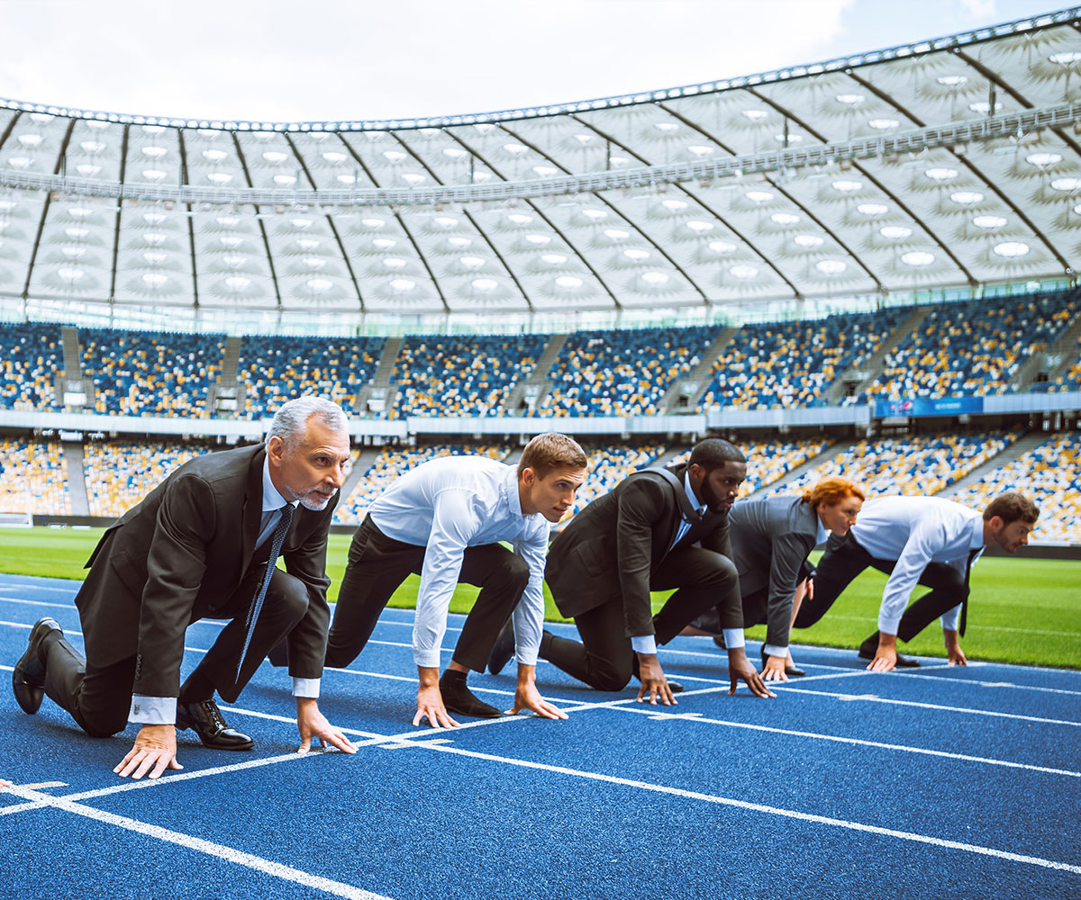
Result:
[[[515,760],[509,756],[496,756],[492,753],[479,753],[475,750],[463,750],[459,747],[432,747],[436,753],[453,753],[459,756],[469,756],[475,760],[485,760],[491,763],[504,763],[522,768],[538,769],[540,771],[551,771],[559,775],[569,775],[575,778],[586,778],[591,781],[604,781],[610,784],[620,784],[625,788],[636,788],[641,791],[652,791],[658,794],[669,794],[672,796],[686,797],[688,800],[699,800],[706,803],[717,803],[723,806],[733,806],[738,809],[748,809],[753,812],[765,812],[771,816],[782,816],[787,819],[798,819],[804,822],[815,822],[824,825],[835,825],[837,828],[849,829],[851,831],[862,831],[868,834],[880,834],[886,837],[899,837],[903,841],[912,841],[918,844],[930,844],[935,847],[944,847],[951,850],[964,850],[970,854],[980,856],[997,857],[1012,862],[1024,862],[1030,865],[1039,865],[1044,869],[1055,869],[1062,872],[1072,872],[1081,874],[1081,865],[1071,865],[1067,862],[1058,862],[1052,859],[1025,856],[1023,854],[1012,854],[1006,850],[999,850],[995,847],[982,847],[978,844],[963,844],[959,841],[948,841],[942,837],[932,837],[926,834],[917,834],[910,831],[897,831],[896,829],[880,828],[879,825],[853,822],[848,819],[835,819],[830,816],[816,816],[811,812],[800,812],[795,809],[783,809],[777,806],[766,806],[760,803],[750,803],[732,797],[722,797],[715,794],[704,794],[698,791],[686,791],[682,788],[669,788],[665,784],[653,784],[649,781],[637,781],[630,778],[618,778],[613,775],[603,775],[596,771],[585,771],[583,769],[572,769],[565,766],[552,766],[546,763],[534,763],[529,760]]]

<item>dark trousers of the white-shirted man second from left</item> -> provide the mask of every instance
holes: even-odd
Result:
[[[349,562],[338,590],[326,640],[326,666],[341,669],[364,649],[391,594],[424,566],[424,547],[387,537],[365,516],[349,546]],[[503,623],[530,581],[529,564],[498,543],[467,547],[458,582],[480,588],[454,647],[454,661],[483,671]]]

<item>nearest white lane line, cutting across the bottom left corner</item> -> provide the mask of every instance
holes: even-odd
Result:
[[[186,849],[216,857],[217,859],[222,859],[237,865],[243,865],[248,869],[262,872],[266,875],[272,875],[273,877],[281,878],[285,882],[315,888],[316,890],[321,890],[324,894],[330,894],[334,897],[344,897],[347,898],[347,900],[388,900],[388,898],[381,894],[373,894],[370,890],[363,890],[362,888],[355,887],[353,885],[335,882],[331,878],[324,878],[321,875],[312,875],[310,872],[302,872],[299,869],[293,869],[291,865],[282,865],[280,862],[273,862],[269,859],[264,859],[263,857],[246,854],[243,850],[238,850],[233,847],[214,844],[213,842],[204,841],[201,837],[195,837],[190,834],[182,834],[181,832],[160,828],[159,825],[141,822],[137,819],[130,819],[126,816],[117,816],[112,812],[105,812],[104,810],[95,809],[91,806],[83,806],[81,803],[76,803],[66,797],[54,797],[51,794],[43,794],[39,791],[28,791],[23,788],[8,788],[6,790],[17,796],[24,797],[25,800],[40,802],[42,806],[51,806],[56,809],[62,809],[65,812],[72,812],[76,816],[82,816],[86,819],[93,819],[98,822],[116,825],[117,828],[122,828],[126,831],[135,832],[136,834],[143,834],[147,837],[154,837],[169,844],[176,844],[177,846]]]

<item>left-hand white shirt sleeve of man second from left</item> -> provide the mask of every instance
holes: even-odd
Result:
[[[476,532],[476,515],[465,491],[446,488],[436,497],[431,532],[421,568],[413,626],[413,661],[439,668],[439,649],[446,631],[446,614],[462,572],[462,558]]]

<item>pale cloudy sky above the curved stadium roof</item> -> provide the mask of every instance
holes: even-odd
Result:
[[[0,97],[269,121],[486,112],[820,62],[1054,0],[0,0]]]

